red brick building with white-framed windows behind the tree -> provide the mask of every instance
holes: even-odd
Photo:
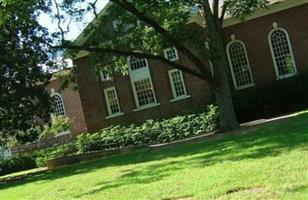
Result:
[[[307,11],[308,0],[272,1],[245,22],[225,20],[223,35],[234,91],[257,90],[308,71]],[[203,24],[198,17],[193,23]],[[77,42],[82,40],[81,35]],[[162,53],[193,67],[174,48]],[[167,118],[204,109],[213,100],[209,85],[201,79],[152,60],[131,58],[128,62],[128,75],[115,73],[111,80],[101,72],[97,80],[87,54],[74,60],[80,102],[64,104],[66,110],[70,106],[78,110],[70,113],[72,117],[83,116],[81,129],[92,132],[112,124]],[[64,102],[70,95],[76,94],[63,94]]]

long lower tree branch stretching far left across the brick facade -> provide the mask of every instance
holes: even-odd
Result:
[[[110,48],[102,48],[102,47],[92,47],[92,46],[73,46],[73,45],[64,45],[64,46],[53,46],[52,48],[65,48],[65,49],[70,49],[70,50],[78,50],[78,51],[88,51],[88,52],[95,52],[95,53],[106,53],[106,54],[112,54],[115,56],[134,56],[137,58],[147,58],[151,60],[156,60],[163,62],[171,67],[174,67],[176,69],[182,70],[185,73],[194,75],[200,79],[206,80],[205,76],[203,73],[200,73],[196,70],[193,70],[189,67],[186,67],[182,64],[179,64],[177,62],[172,62],[168,59],[166,59],[163,56],[158,56],[158,55],[151,55],[151,54],[146,54],[146,53],[141,53],[141,52],[132,52],[132,51],[126,51],[126,50],[117,50],[117,49],[110,49]]]

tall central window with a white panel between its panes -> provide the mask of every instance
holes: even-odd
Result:
[[[148,61],[144,58],[130,58],[129,75],[137,109],[156,105],[156,98]]]

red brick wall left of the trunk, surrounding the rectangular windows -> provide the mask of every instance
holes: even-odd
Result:
[[[182,56],[180,57],[180,62],[190,65]],[[79,67],[78,84],[89,131],[96,131],[112,124],[138,124],[147,119],[167,118],[184,112],[200,110],[205,108],[211,99],[211,92],[205,81],[183,73],[186,90],[191,97],[178,102],[170,102],[173,95],[168,76],[168,66],[149,61],[156,100],[160,105],[145,110],[133,111],[136,109],[136,103],[128,75],[115,74],[114,81],[100,82],[95,80],[98,77],[91,73],[91,68],[86,58],[76,60],[75,64]],[[105,88],[112,86],[116,87],[124,115],[106,119],[108,113],[103,92]]]

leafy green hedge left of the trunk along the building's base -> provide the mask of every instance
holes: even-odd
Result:
[[[165,120],[148,120],[140,126],[111,126],[94,134],[81,134],[76,142],[31,154],[21,154],[0,162],[0,175],[46,166],[46,161],[76,153],[116,149],[128,146],[172,142],[210,132],[218,128],[218,108]]]

